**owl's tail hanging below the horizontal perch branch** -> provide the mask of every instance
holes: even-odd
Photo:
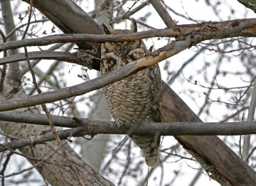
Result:
[[[150,167],[156,166],[158,162],[158,148],[160,136],[131,136],[132,141],[136,143],[143,151],[146,164]]]

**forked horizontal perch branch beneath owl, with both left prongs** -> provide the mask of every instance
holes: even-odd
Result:
[[[8,116],[9,114],[9,116]],[[0,119],[7,121],[17,121],[17,117],[13,120],[13,115],[18,115],[20,122],[34,123],[37,125],[49,125],[47,116],[44,114],[33,114],[26,112],[1,112]],[[3,117],[5,115],[5,117]],[[28,120],[28,118],[33,120]],[[94,134],[136,134],[136,135],[154,135],[161,136],[212,136],[212,135],[243,135],[256,134],[256,121],[246,122],[230,122],[230,123],[203,123],[203,122],[178,122],[178,123],[148,123],[140,124],[134,128],[118,128],[114,121],[95,121],[89,119],[76,119],[77,124],[72,117],[52,116],[55,126],[74,127],[72,129],[58,131],[60,139],[70,136],[78,137]],[[17,124],[18,125],[18,124]],[[159,127],[161,125],[161,127]],[[79,126],[79,127],[77,127]],[[42,134],[40,136],[32,136],[26,139],[20,139],[8,143],[4,143],[8,148],[16,149],[31,144],[44,143],[45,141],[55,140],[52,134]],[[6,148],[0,147],[0,152]]]

